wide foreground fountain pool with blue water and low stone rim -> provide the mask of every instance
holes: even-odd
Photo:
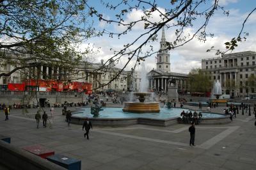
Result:
[[[146,112],[141,114],[123,112],[122,108],[105,107],[103,111],[100,111],[98,118],[93,118],[93,115],[90,114],[90,108],[83,108],[72,113],[71,123],[83,125],[85,118],[90,118],[93,125],[103,127],[124,127],[136,124],[166,127],[179,123],[178,120],[182,111],[190,110],[186,108],[161,108],[159,113]],[[202,114],[203,121],[200,124],[212,125],[231,122],[229,116],[223,114],[212,112],[202,112]]]

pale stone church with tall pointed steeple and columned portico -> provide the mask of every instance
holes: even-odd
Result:
[[[160,49],[157,53],[156,69],[151,70],[147,74],[149,88],[154,91],[167,91],[168,80],[174,79],[178,91],[186,91],[186,89],[188,89],[188,74],[171,72],[170,53],[168,49],[166,49],[166,47],[166,38],[163,29],[160,42]]]

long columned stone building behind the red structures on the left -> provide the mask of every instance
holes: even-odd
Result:
[[[8,53],[8,51],[6,51]],[[13,52],[9,52],[8,56],[16,55]],[[61,66],[51,66],[44,63],[41,63],[38,66],[33,66],[31,68],[24,68],[22,70],[17,70],[13,72],[10,76],[0,77],[0,90],[6,90],[7,84],[12,83],[21,83],[26,79],[39,79],[42,80],[57,80],[57,81],[67,81],[67,82],[89,82],[93,84],[93,89],[98,91],[115,89],[116,91],[127,91],[131,86],[131,72],[123,71],[120,73],[120,76],[114,81],[108,83],[117,72],[120,72],[120,68],[116,68],[114,62],[111,62],[108,66],[108,69],[95,72],[103,65],[101,63],[81,63],[79,66],[76,66],[74,70],[68,70],[68,68],[61,68]],[[0,63],[0,73],[9,73],[17,66],[13,66],[8,63]],[[130,77],[129,77],[130,76]],[[107,84],[102,86],[102,84]]]

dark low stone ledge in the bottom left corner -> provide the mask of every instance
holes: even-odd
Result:
[[[4,141],[0,141],[0,164],[15,170],[65,170],[61,166]]]

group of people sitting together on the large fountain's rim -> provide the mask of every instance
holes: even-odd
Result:
[[[196,111],[194,111],[193,113],[192,111],[182,111],[180,113],[180,118],[183,123],[195,122],[196,125],[198,125],[202,121],[202,116],[202,112],[197,113]]]

